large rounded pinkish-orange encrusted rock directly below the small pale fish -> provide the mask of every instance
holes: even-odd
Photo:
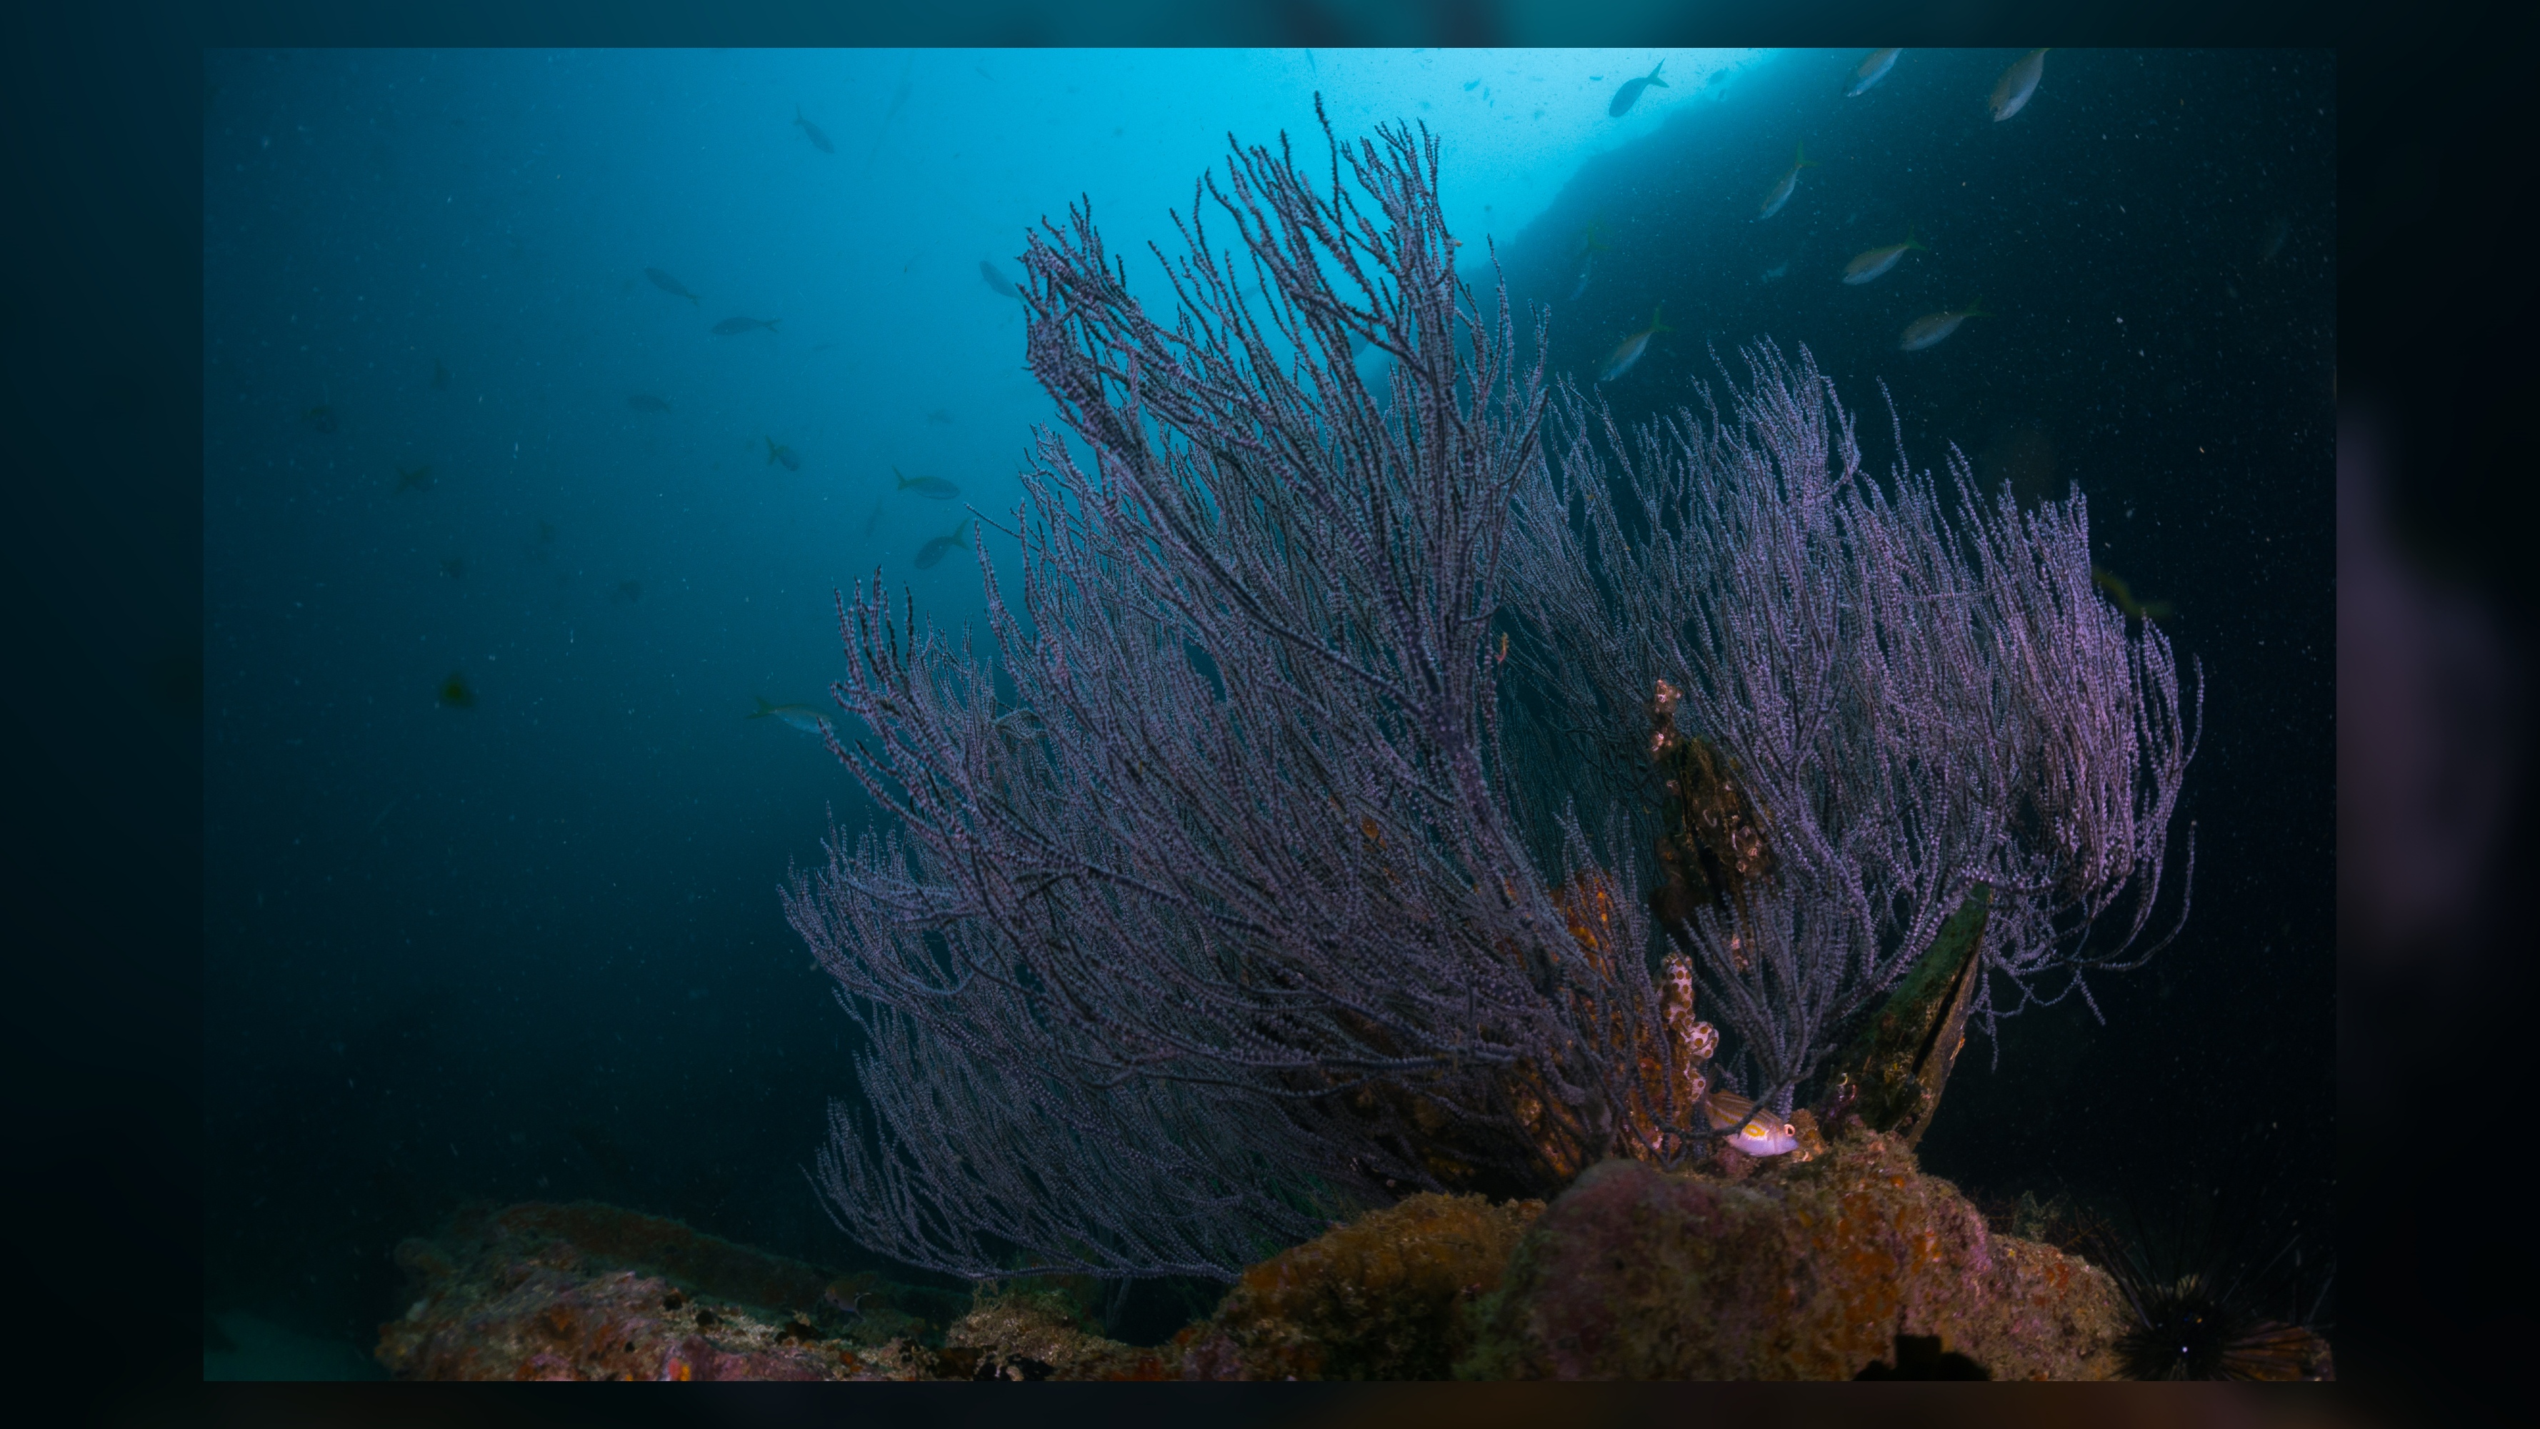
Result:
[[[1468,1378],[1854,1378],[1935,1337],[1989,1378],[2108,1378],[2123,1304],[2088,1261],[1994,1236],[1895,1139],[1725,1180],[1590,1167],[1476,1315]]]

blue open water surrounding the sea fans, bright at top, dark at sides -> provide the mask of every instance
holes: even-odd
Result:
[[[775,885],[866,806],[744,714],[823,699],[831,590],[876,567],[975,618],[968,554],[912,557],[963,503],[1011,511],[1046,417],[980,259],[1019,277],[1021,229],[1085,193],[1158,300],[1166,206],[1227,130],[1318,145],[1316,89],[1344,135],[1445,137],[1448,219],[1547,305],[1557,369],[1666,305],[1621,417],[1773,336],[1875,465],[1885,381],[1915,465],[1956,442],[2029,496],[2080,483],[2212,679],[2197,908],[2098,984],[2106,1027],[2029,1015],[1999,1070],[1971,1043],[1925,1159],[1996,1203],[2220,1187],[2324,1236],[2327,56],[2057,51],[1996,125],[2017,51],[1908,51],[1857,99],[1862,51],[1674,53],[1610,120],[1659,53],[213,56],[206,1312],[366,1345],[391,1246],[465,1198],[861,1264],[798,1175],[848,1025]],[[1819,168],[1750,221],[1796,142]],[[1836,282],[1908,224],[1930,254]],[[1996,315],[1895,351],[1976,297]],[[782,323],[709,333],[732,315]]]

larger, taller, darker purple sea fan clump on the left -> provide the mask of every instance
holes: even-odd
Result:
[[[998,661],[879,580],[841,600],[866,737],[836,748],[892,831],[833,839],[787,918],[869,1032],[871,1119],[836,1111],[818,1182],[874,1248],[1232,1276],[1349,1205],[1539,1193],[1692,1119],[1615,1035],[1661,1027],[1633,900],[1501,793],[1542,346],[1521,371],[1506,297],[1458,280],[1438,142],[1379,137],[1328,183],[1237,150],[1204,186],[1237,254],[1194,196],[1173,325],[1087,211],[1034,236],[1029,356],[1090,460],[1036,442],[1021,610],[980,557]]]

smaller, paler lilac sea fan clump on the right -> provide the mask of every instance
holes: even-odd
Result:
[[[1979,887],[1984,1027],[2156,951],[2195,737],[2169,641],[2090,585],[2078,488],[1986,501],[1951,450],[1951,509],[1902,458],[1885,483],[1862,470],[1806,351],[1763,343],[1748,376],[1727,412],[1707,397],[1628,437],[1570,394],[1504,585],[1544,707],[1514,742],[1575,770],[1572,798],[1646,791],[1648,730],[1613,717],[1636,702],[1732,770],[1758,857],[1661,931],[1732,1063],[1788,1109]],[[1643,816],[1636,847],[1654,834]]]

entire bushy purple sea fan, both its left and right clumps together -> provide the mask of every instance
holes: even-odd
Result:
[[[1085,209],[1031,239],[1082,445],[1036,440],[1019,605],[978,547],[996,656],[841,598],[831,748],[884,821],[785,910],[866,1032],[815,1175],[848,1233],[1232,1279],[1356,1205],[1702,1144],[1697,971],[1788,1106],[1979,882],[2007,987],[2123,956],[2085,933],[2141,931],[2187,750],[2078,498],[1862,481],[1770,348],[1735,420],[1600,450],[1460,282],[1425,130],[1328,178],[1237,147],[1176,224],[1168,325]],[[1654,926],[1661,679],[1745,867]]]

